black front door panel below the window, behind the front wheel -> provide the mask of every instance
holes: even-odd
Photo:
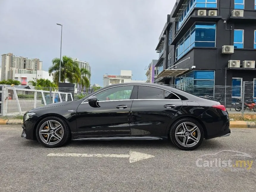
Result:
[[[129,113],[132,100],[82,103],[77,108],[79,137],[130,136]]]

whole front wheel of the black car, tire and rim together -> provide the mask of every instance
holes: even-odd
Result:
[[[44,118],[36,129],[37,140],[46,147],[63,146],[70,137],[68,124],[59,117]]]

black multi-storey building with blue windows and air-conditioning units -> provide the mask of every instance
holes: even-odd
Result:
[[[256,82],[256,0],[177,0],[156,51],[156,83]]]

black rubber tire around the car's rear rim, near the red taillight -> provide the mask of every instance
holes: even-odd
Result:
[[[188,137],[187,138],[189,138],[188,139],[188,141],[187,141],[187,143],[190,143],[190,142],[192,142],[192,143],[194,143],[194,145],[193,144],[191,144],[191,146],[189,146],[190,144],[187,144],[187,146],[184,146],[184,145],[182,145],[181,143],[182,143],[182,141],[181,140],[183,140],[183,143],[185,143],[185,141],[184,141],[184,138],[186,138],[186,137],[184,137],[184,136],[181,136],[181,134],[179,134],[179,133],[181,133],[181,132],[178,132],[177,134],[179,134],[180,136],[178,137],[176,137],[176,135],[175,135],[175,132],[176,132],[176,130],[180,130],[180,129],[183,129],[184,128],[184,126],[183,126],[183,123],[189,123],[189,124],[191,124],[191,127],[192,127],[192,129],[191,129],[191,131],[185,131],[185,133],[184,133],[184,136],[185,136],[185,134],[190,134],[190,135],[188,135]],[[195,129],[193,129],[193,127],[194,126],[192,126],[192,125],[196,125],[196,127],[198,128],[195,128]],[[182,127],[181,127],[182,126]],[[189,127],[190,125],[187,125],[186,127],[187,128],[189,128],[189,129],[187,129],[187,130],[190,130],[190,128],[191,127]],[[185,130],[185,129],[184,129]],[[196,133],[195,133],[195,131],[196,131]],[[197,137],[197,139],[194,139],[195,137],[193,137],[193,134],[197,134],[196,135],[196,137]],[[201,145],[201,143],[202,143],[202,141],[203,141],[203,138],[204,138],[204,130],[203,130],[203,128],[202,128],[202,125],[198,122],[198,121],[196,121],[195,119],[193,119],[193,118],[182,118],[182,119],[179,119],[179,120],[177,120],[177,121],[175,121],[172,125],[171,125],[171,128],[170,128],[170,132],[169,132],[169,136],[170,136],[170,139],[171,139],[171,142],[175,145],[175,146],[177,146],[177,147],[179,147],[180,149],[182,149],[182,150],[187,150],[187,151],[189,151],[189,150],[194,150],[194,149],[196,149],[197,147],[199,147],[200,145]],[[193,138],[192,138],[193,137]],[[180,141],[178,141],[178,139],[180,139]],[[197,142],[195,142],[195,141],[197,141]],[[195,144],[196,143],[196,144]]]

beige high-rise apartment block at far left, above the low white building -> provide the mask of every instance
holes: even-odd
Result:
[[[32,71],[42,70],[42,61],[15,56],[12,53],[2,54],[1,80],[13,79],[16,69],[28,69]]]

